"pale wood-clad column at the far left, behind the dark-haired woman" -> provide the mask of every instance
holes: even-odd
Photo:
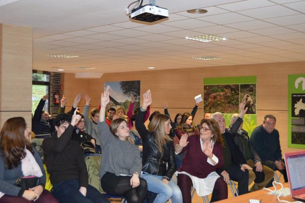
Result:
[[[22,116],[31,127],[33,28],[0,24],[0,127]]]

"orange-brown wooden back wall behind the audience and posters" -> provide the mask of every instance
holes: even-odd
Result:
[[[96,106],[100,102],[104,82],[141,80],[141,94],[148,89],[152,91],[152,111],[163,111],[164,102],[167,101],[169,112],[174,118],[178,112],[192,110],[194,97],[203,94],[203,78],[257,76],[257,124],[261,124],[265,114],[273,113],[277,117],[276,128],[280,131],[282,150],[289,152],[295,149],[287,148],[287,76],[304,73],[305,62],[112,73],[104,74],[100,79],[87,80],[87,92],[92,97],[91,103]],[[65,84],[74,83],[76,79],[73,77],[69,76],[71,80],[65,80]],[[72,89],[65,91],[76,94]],[[201,102],[195,123],[199,123],[203,116],[202,108]]]

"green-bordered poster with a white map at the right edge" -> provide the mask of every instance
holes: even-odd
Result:
[[[288,147],[305,149],[305,75],[288,76]]]

